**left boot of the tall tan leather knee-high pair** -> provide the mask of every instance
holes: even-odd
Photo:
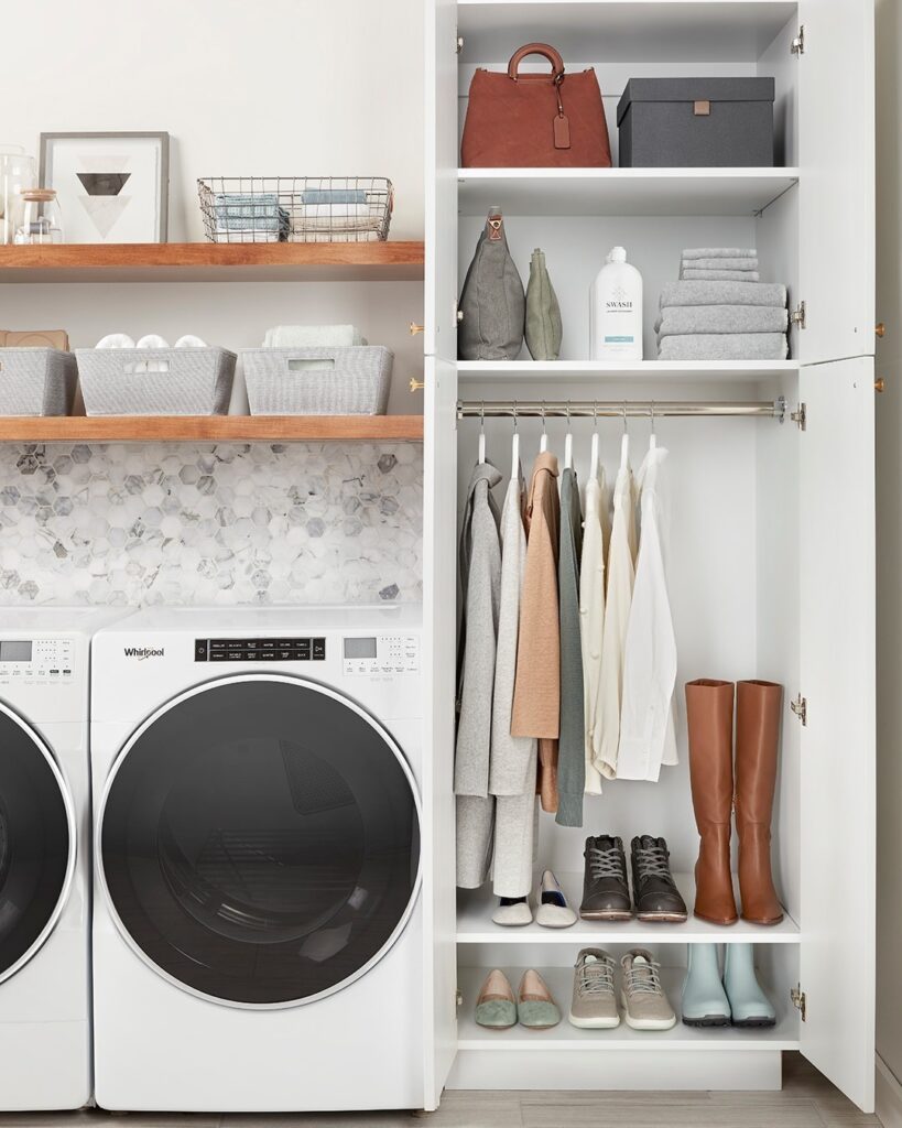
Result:
[[[714,924],[739,919],[729,870],[733,813],[733,682],[701,678],[686,686],[689,778],[701,836],[696,863],[696,916]]]

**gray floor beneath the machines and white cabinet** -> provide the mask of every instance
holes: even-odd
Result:
[[[864,1128],[879,1125],[798,1054],[779,1093],[449,1092],[437,1112],[325,1116],[0,1116],[0,1128]]]

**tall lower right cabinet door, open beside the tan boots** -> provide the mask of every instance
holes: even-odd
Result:
[[[803,368],[802,1052],[874,1108],[874,363]],[[795,693],[795,690],[790,691]],[[788,707],[788,703],[787,703]],[[799,723],[792,717],[787,724]]]

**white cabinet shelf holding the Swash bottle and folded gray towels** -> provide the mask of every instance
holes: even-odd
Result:
[[[796,361],[591,361],[511,360],[458,361],[458,385],[547,384],[549,397],[558,384],[603,385],[622,380],[672,384],[754,384],[798,372]]]

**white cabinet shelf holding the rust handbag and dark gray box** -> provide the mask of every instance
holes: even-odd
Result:
[[[461,168],[458,211],[755,215],[797,183],[797,168]]]

